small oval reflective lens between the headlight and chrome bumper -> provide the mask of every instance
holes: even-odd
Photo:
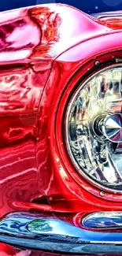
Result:
[[[91,213],[83,218],[83,227],[94,229],[121,229],[122,213],[121,212],[98,212]]]

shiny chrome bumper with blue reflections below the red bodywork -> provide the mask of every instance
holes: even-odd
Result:
[[[121,254],[122,230],[96,232],[44,213],[10,213],[0,221],[0,242],[60,254]]]

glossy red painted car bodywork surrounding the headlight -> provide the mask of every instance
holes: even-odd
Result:
[[[121,193],[105,190],[102,197],[78,176],[62,134],[68,95],[95,60],[109,65],[121,57],[121,37],[121,17],[97,19],[60,4],[0,13],[1,217],[122,210]],[[43,253],[1,244],[1,254]]]

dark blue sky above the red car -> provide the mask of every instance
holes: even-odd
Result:
[[[82,9],[86,13],[99,13],[122,9],[122,0],[0,0],[0,11],[50,2],[66,3]]]

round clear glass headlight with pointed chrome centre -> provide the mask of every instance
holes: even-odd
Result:
[[[122,67],[102,69],[81,84],[68,104],[66,144],[82,176],[122,186]]]

